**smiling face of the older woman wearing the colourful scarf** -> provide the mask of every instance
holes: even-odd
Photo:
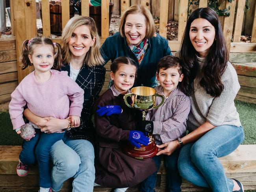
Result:
[[[146,36],[146,18],[141,13],[129,14],[124,24],[125,37],[138,46]]]

